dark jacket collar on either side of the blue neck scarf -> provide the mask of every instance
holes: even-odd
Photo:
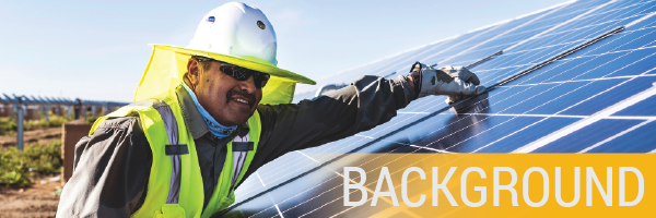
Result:
[[[185,123],[187,124],[189,132],[191,132],[191,136],[194,137],[194,140],[198,140],[206,134],[212,134],[210,132],[210,129],[208,128],[208,124],[202,120],[202,116],[200,114],[200,112],[198,112],[196,104],[194,104],[194,100],[191,100],[191,96],[189,96],[189,93],[187,93],[185,87],[183,87],[181,84],[178,85],[175,88],[175,93],[177,95],[180,109],[183,111],[183,117],[185,117]],[[237,130],[233,131],[233,133],[229,137],[232,138],[238,133],[247,133],[248,131],[248,123],[245,122],[237,125]]]

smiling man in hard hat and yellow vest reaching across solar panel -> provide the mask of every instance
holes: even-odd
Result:
[[[370,130],[418,96],[484,90],[466,69],[418,62],[409,76],[364,76],[290,104],[295,83],[314,81],[276,66],[273,27],[237,2],[206,15],[187,48],[153,47],[136,102],[75,145],[58,217],[209,217],[288,152]]]

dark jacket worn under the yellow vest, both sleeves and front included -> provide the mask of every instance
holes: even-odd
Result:
[[[229,137],[216,140],[184,87],[176,89],[185,122],[194,136],[207,206],[223,169]],[[261,136],[246,171],[285,153],[337,141],[370,130],[395,117],[414,99],[403,76],[385,80],[363,76],[327,95],[288,105],[259,105]],[[75,145],[73,175],[63,187],[57,217],[129,217],[143,204],[152,153],[137,117],[105,121]],[[238,186],[238,185],[237,185]]]

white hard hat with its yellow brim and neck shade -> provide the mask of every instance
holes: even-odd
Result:
[[[150,99],[179,85],[192,56],[270,74],[271,78],[262,88],[260,104],[292,102],[296,83],[316,84],[311,78],[277,66],[273,26],[259,9],[245,3],[225,3],[204,15],[186,48],[151,46],[153,53],[134,93],[134,101]]]

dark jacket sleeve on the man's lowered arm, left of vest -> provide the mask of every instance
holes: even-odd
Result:
[[[129,217],[143,202],[151,164],[138,118],[105,121],[75,145],[57,217]]]

